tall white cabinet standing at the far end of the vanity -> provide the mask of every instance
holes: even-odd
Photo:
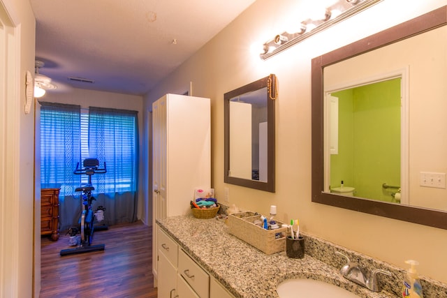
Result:
[[[195,188],[211,185],[210,98],[166,94],[152,104],[152,271],[157,286],[155,221],[188,214]]]

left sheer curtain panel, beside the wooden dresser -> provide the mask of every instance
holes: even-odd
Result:
[[[76,223],[80,200],[73,196],[80,176],[73,174],[80,161],[80,106],[41,102],[41,188],[61,187],[59,228]]]

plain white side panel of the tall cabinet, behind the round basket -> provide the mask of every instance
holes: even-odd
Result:
[[[211,186],[210,99],[168,94],[168,216],[191,214],[195,188]]]

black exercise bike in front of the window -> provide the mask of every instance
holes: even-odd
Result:
[[[91,185],[91,176],[94,174],[105,174],[107,169],[105,167],[100,168],[99,161],[97,158],[85,158],[82,163],[83,167],[79,168],[79,163],[76,165],[76,170],[73,174],[85,174],[89,177],[89,181],[85,186],[81,186],[75,189],[75,191],[82,192],[82,214],[79,218],[78,224],[80,228],[80,245],[75,248],[63,249],[61,250],[61,255],[72,255],[75,253],[88,253],[90,251],[103,251],[105,249],[105,244],[91,245],[93,241],[94,230],[107,230],[107,225],[94,226],[95,221],[101,221],[101,218],[97,218],[93,209],[91,208],[91,203],[96,200],[91,191],[94,191],[94,186]],[[100,210],[105,210],[103,207],[98,207]]]

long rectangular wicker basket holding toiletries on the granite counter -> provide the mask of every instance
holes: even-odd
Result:
[[[258,248],[263,253],[271,255],[279,253],[286,249],[287,228],[279,228],[275,230],[265,230],[254,221],[261,219],[261,215],[252,211],[245,211],[228,216],[228,226],[230,234]],[[281,227],[283,223],[276,221]]]

